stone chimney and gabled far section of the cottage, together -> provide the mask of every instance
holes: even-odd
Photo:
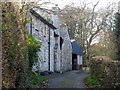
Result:
[[[58,34],[58,48],[57,48],[57,59],[55,59],[57,71],[66,71],[72,69],[72,46],[71,41],[69,38],[69,34],[67,30],[62,30],[63,33],[61,34],[61,28],[60,28],[60,9],[56,5],[52,8],[54,11],[54,14],[52,15],[52,21],[53,25],[57,28],[55,30],[56,34]],[[65,35],[64,35],[65,33]],[[62,49],[60,49],[60,37],[64,39],[64,43],[62,46]]]

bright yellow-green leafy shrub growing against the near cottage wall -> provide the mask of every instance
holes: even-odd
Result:
[[[38,60],[37,52],[40,51],[40,42],[38,42],[31,35],[27,35],[27,44],[28,44],[29,66],[31,69],[34,62]]]

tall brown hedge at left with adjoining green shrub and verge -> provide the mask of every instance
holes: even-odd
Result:
[[[2,88],[37,88],[45,80],[31,72],[40,43],[26,36],[23,13],[17,3],[2,3]]]

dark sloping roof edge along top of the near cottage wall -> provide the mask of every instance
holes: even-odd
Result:
[[[36,18],[40,19],[44,24],[48,25],[52,29],[57,29],[53,24],[49,23],[42,16],[40,16],[35,10],[30,9],[30,13],[34,15]]]

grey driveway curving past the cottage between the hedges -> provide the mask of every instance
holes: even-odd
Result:
[[[87,88],[84,79],[88,71],[70,71],[50,76],[46,88]]]

